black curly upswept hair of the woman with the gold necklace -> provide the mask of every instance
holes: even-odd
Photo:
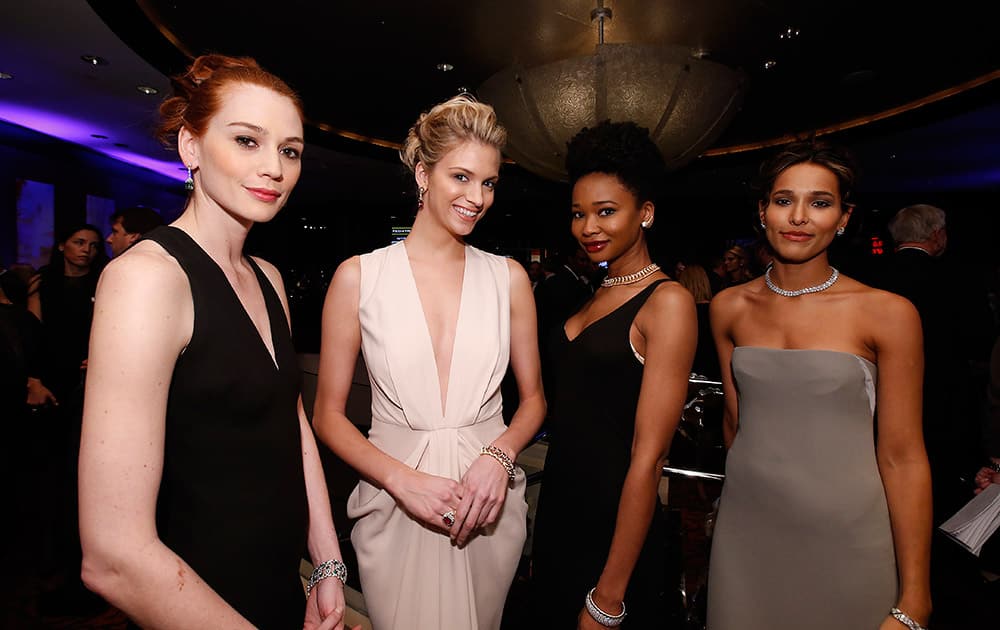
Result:
[[[642,204],[656,201],[666,165],[648,129],[631,121],[604,120],[569,141],[566,171],[570,186],[591,173],[614,175]]]

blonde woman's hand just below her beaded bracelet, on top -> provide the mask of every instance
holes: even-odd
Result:
[[[476,530],[496,522],[507,497],[507,482],[507,471],[492,457],[480,455],[472,462],[462,476],[462,502],[451,527],[455,544],[465,545]]]

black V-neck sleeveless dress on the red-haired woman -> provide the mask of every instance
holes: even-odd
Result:
[[[177,259],[194,300],[194,332],[167,401],[160,538],[258,628],[301,628],[309,516],[296,412],[301,371],[281,302],[248,258],[267,305],[275,367],[215,261],[177,228],[146,238]]]

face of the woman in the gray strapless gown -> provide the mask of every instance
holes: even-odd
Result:
[[[788,262],[804,262],[825,254],[845,227],[851,208],[841,198],[837,176],[811,162],[785,169],[760,204],[760,220],[775,255]]]

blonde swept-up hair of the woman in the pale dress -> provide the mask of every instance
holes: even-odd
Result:
[[[468,140],[503,151],[507,130],[491,106],[471,94],[459,94],[420,114],[399,149],[399,159],[411,173],[421,163],[430,171],[446,153]]]

